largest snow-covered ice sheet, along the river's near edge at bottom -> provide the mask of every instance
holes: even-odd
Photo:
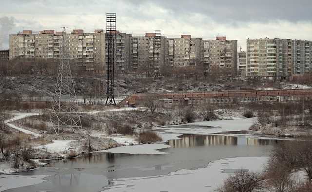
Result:
[[[211,162],[206,168],[183,169],[168,175],[113,180],[103,192],[212,192],[240,168],[261,171],[268,157],[237,157]]]

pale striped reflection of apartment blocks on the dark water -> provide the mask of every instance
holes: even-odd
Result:
[[[182,135],[181,139],[170,140],[167,143],[174,148],[192,148],[197,146],[215,145],[273,145],[279,140],[257,139],[245,136],[225,135]]]

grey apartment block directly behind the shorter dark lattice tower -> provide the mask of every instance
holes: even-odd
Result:
[[[155,33],[145,33],[145,36],[133,36],[131,38],[132,70],[153,69],[154,37]],[[165,64],[165,39],[166,37],[161,37],[160,67]]]

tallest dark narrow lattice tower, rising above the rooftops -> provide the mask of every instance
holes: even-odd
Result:
[[[116,13],[106,14],[105,40],[107,43],[107,100],[105,105],[116,105],[114,98]]]

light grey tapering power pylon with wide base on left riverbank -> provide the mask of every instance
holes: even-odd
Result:
[[[64,27],[62,33],[62,47],[60,47],[59,52],[59,72],[53,97],[52,115],[50,118],[51,123],[53,123],[53,129],[57,135],[60,131],[64,131],[65,128],[70,128],[73,132],[76,129],[80,131],[82,129],[65,36],[66,29]]]

